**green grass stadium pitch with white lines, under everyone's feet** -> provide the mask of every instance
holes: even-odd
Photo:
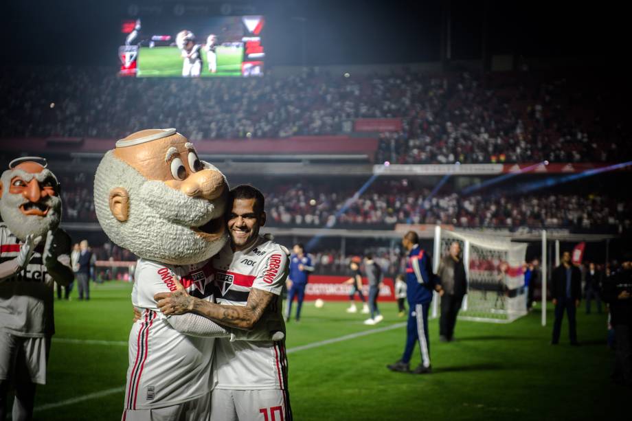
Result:
[[[55,302],[56,335],[48,383],[38,386],[36,420],[119,420],[131,327],[131,284],[91,285],[91,300]],[[429,375],[389,372],[403,350],[405,321],[396,304],[364,326],[347,303],[304,304],[287,327],[290,396],[295,420],[596,420],[621,419],[630,389],[609,381],[606,316],[578,311],[580,347],[549,345],[540,314],[509,324],[459,321],[451,343],[438,341],[430,321]],[[394,326],[395,325],[395,326]],[[387,329],[392,327],[391,329]],[[359,332],[373,332],[352,336]],[[312,344],[312,345],[310,345]],[[308,346],[304,346],[308,345]],[[301,348],[302,347],[302,348]],[[412,367],[420,360],[413,354]]]

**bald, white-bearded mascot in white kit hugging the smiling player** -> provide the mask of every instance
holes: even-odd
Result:
[[[94,203],[109,238],[139,256],[132,302],[140,318],[129,337],[124,420],[206,420],[214,338],[269,341],[273,332],[231,330],[188,313],[164,316],[156,293],[213,300],[210,258],[228,240],[228,185],[174,128],[117,141],[95,174]]]

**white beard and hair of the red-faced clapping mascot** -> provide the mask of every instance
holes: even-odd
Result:
[[[8,229],[21,241],[24,241],[30,234],[33,234],[35,238],[38,236],[44,238],[49,230],[55,231],[57,227],[59,227],[61,220],[61,198],[59,196],[48,196],[39,202],[49,207],[45,216],[25,215],[20,210],[20,206],[23,203],[27,203],[28,200],[21,194],[12,194],[9,192],[11,179],[16,175],[21,175],[25,179],[32,176],[38,181],[44,181],[44,179],[51,174],[52,172],[50,172],[50,170],[43,170],[37,174],[30,174],[21,170],[7,170],[3,172],[2,177],[0,177],[0,181],[2,181],[4,187],[2,198],[0,198],[0,215]]]

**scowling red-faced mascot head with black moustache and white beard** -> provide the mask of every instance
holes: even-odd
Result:
[[[18,158],[0,177],[0,215],[22,241],[29,234],[44,237],[61,220],[59,184],[46,166],[44,158]]]

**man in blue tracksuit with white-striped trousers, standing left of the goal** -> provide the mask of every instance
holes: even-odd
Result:
[[[430,340],[428,334],[428,310],[432,301],[432,292],[442,295],[439,278],[432,272],[432,258],[419,247],[419,236],[408,231],[402,239],[402,245],[408,251],[406,263],[406,286],[409,305],[406,347],[402,358],[387,365],[394,372],[409,372],[409,363],[415,348],[419,344],[421,364],[413,370],[415,374],[431,372]]]

